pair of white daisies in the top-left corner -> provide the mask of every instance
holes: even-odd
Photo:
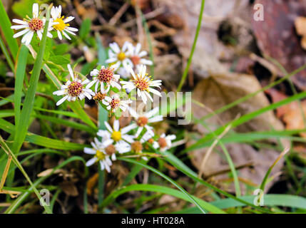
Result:
[[[34,33],[36,33],[39,39],[41,40],[46,24],[46,18],[41,15],[41,12],[39,11],[39,4],[33,4],[32,14],[33,15],[31,18],[29,16],[26,16],[26,19],[24,19],[23,21],[19,19],[13,19],[13,22],[18,25],[11,26],[11,28],[16,30],[23,28],[23,30],[19,31],[18,33],[15,33],[13,37],[16,38],[19,36],[23,36],[21,39],[21,43],[24,43],[26,45],[29,45],[31,43]],[[73,32],[78,31],[77,28],[72,28],[68,24],[68,22],[72,21],[73,19],[73,16],[68,16],[65,19],[65,16],[61,16],[61,6],[53,6],[51,9],[51,19],[49,20],[47,36],[49,38],[52,38],[53,35],[51,31],[55,30],[57,31],[59,39],[62,39],[61,34],[63,34],[63,36],[65,36],[66,38],[71,39],[67,33],[76,35],[76,33]]]

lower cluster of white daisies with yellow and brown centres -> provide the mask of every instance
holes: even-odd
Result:
[[[160,151],[170,149],[171,141],[175,140],[175,135],[165,136],[163,134],[160,135],[160,138],[156,138],[151,126],[151,123],[163,120],[162,115],[155,115],[158,113],[158,108],[143,115],[139,115],[132,108],[128,108],[128,110],[133,115],[134,123],[121,128],[119,120],[114,120],[112,127],[105,122],[106,130],[99,130],[97,133],[101,140],[94,138],[94,142],[91,142],[92,148],[84,148],[85,153],[93,155],[93,158],[86,162],[87,166],[99,162],[101,170],[105,169],[107,172],[111,172],[112,161],[115,161],[118,155],[138,155],[143,160],[148,160],[148,155],[143,152],[149,149],[148,145],[155,149],[160,148]],[[141,134],[143,129],[146,129],[146,132]]]

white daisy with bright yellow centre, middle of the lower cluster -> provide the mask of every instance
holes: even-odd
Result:
[[[127,133],[132,129],[131,126],[120,128],[119,120],[113,122],[113,128],[106,121],[104,122],[107,130],[98,130],[97,135],[103,138],[105,145],[115,143],[116,150],[119,153],[125,153],[131,151],[131,145],[128,144],[133,142],[133,135]]]

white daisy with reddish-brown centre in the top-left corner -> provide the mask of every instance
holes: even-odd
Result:
[[[44,33],[44,26],[46,24],[46,19],[40,19],[39,18],[39,4],[33,4],[33,17],[28,19],[24,19],[23,21],[19,19],[13,19],[13,22],[19,25],[11,26],[12,29],[19,30],[21,28],[24,28],[24,30],[19,31],[18,33],[14,34],[14,38],[23,36],[21,39],[21,43],[25,43],[26,45],[29,45],[31,43],[31,40],[33,38],[34,33],[37,33],[37,36],[39,36],[39,39],[41,40],[43,33]],[[52,38],[52,34],[49,32],[52,30],[52,26],[54,23],[52,19],[49,21],[49,28],[47,36]]]

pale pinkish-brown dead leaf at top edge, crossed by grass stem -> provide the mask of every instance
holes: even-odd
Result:
[[[178,30],[173,36],[173,41],[178,47],[178,51],[184,59],[188,59],[190,49],[193,44],[193,37],[196,26],[198,24],[198,16],[200,14],[201,1],[198,0],[153,0],[155,9],[160,7],[165,8],[165,12],[169,15],[177,15],[183,21],[183,29]],[[250,24],[249,1],[224,1],[224,0],[210,0],[205,1],[205,10],[203,23],[199,32],[197,46],[193,54],[192,70],[202,77],[208,76],[210,73],[225,73],[228,71],[228,66],[221,63],[221,61],[231,61],[233,59],[235,49],[225,45],[218,37],[218,31],[224,21],[233,22],[237,27],[244,27],[245,24]],[[233,19],[240,18],[245,24],[241,27]],[[233,19],[233,20],[230,20]],[[173,24],[169,21],[161,20],[165,24]],[[181,27],[181,26],[176,26]],[[175,28],[175,26],[174,26]],[[245,27],[243,28],[245,29]],[[244,36],[245,41],[250,41],[246,36],[251,37],[250,34],[245,34],[238,29],[237,35]],[[241,42],[240,42],[241,41]],[[239,43],[243,43],[240,39]]]

